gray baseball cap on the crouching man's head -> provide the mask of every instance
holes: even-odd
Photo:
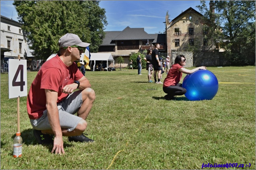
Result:
[[[84,43],[80,40],[78,35],[67,33],[59,39],[59,47],[64,48],[68,46],[77,45],[79,47],[88,47],[89,43]]]

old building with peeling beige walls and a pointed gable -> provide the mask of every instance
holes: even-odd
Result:
[[[193,46],[195,43],[199,45],[200,51],[215,50],[215,46],[209,46],[208,40],[204,38],[207,31],[203,30],[205,22],[202,17],[202,14],[191,7],[170,22],[166,16],[167,53],[186,51],[187,44]]]

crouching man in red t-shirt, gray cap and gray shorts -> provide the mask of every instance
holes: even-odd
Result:
[[[74,62],[89,45],[76,34],[63,35],[59,39],[60,53],[42,65],[28,92],[27,112],[33,134],[40,144],[53,143],[51,153],[65,153],[63,136],[69,141],[94,141],[82,133],[95,92]]]

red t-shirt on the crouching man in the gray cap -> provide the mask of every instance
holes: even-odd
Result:
[[[78,70],[77,64],[73,62],[71,66],[66,66],[59,58],[59,54],[46,61],[38,71],[28,92],[27,111],[29,119],[38,119],[46,110],[45,89],[57,91],[57,103],[59,103],[68,95],[62,93],[62,88],[82,77],[83,74]]]

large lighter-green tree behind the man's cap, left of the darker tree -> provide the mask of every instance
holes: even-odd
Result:
[[[27,41],[33,50],[32,55],[47,59],[52,53],[57,53],[58,40],[66,33],[77,34],[83,42],[92,45],[93,38],[97,36],[91,35],[91,21],[83,3],[84,1],[14,1],[19,22],[23,23],[22,29],[26,31]],[[104,25],[98,26],[98,30],[104,29]]]

